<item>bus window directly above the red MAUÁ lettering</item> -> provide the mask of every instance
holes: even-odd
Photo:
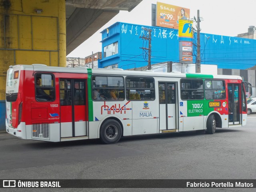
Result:
[[[92,77],[92,100],[124,100],[124,77]]]

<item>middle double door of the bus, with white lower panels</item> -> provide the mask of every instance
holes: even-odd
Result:
[[[176,83],[159,82],[160,130],[176,129]]]

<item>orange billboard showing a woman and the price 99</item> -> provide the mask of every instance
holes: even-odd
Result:
[[[157,2],[156,26],[178,29],[178,20],[188,20],[189,14],[188,8]]]

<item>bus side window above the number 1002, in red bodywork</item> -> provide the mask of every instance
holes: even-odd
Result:
[[[36,101],[54,101],[55,87],[52,74],[36,74]]]

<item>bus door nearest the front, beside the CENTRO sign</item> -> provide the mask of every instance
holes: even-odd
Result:
[[[228,83],[228,125],[240,124],[239,93],[239,84]]]

